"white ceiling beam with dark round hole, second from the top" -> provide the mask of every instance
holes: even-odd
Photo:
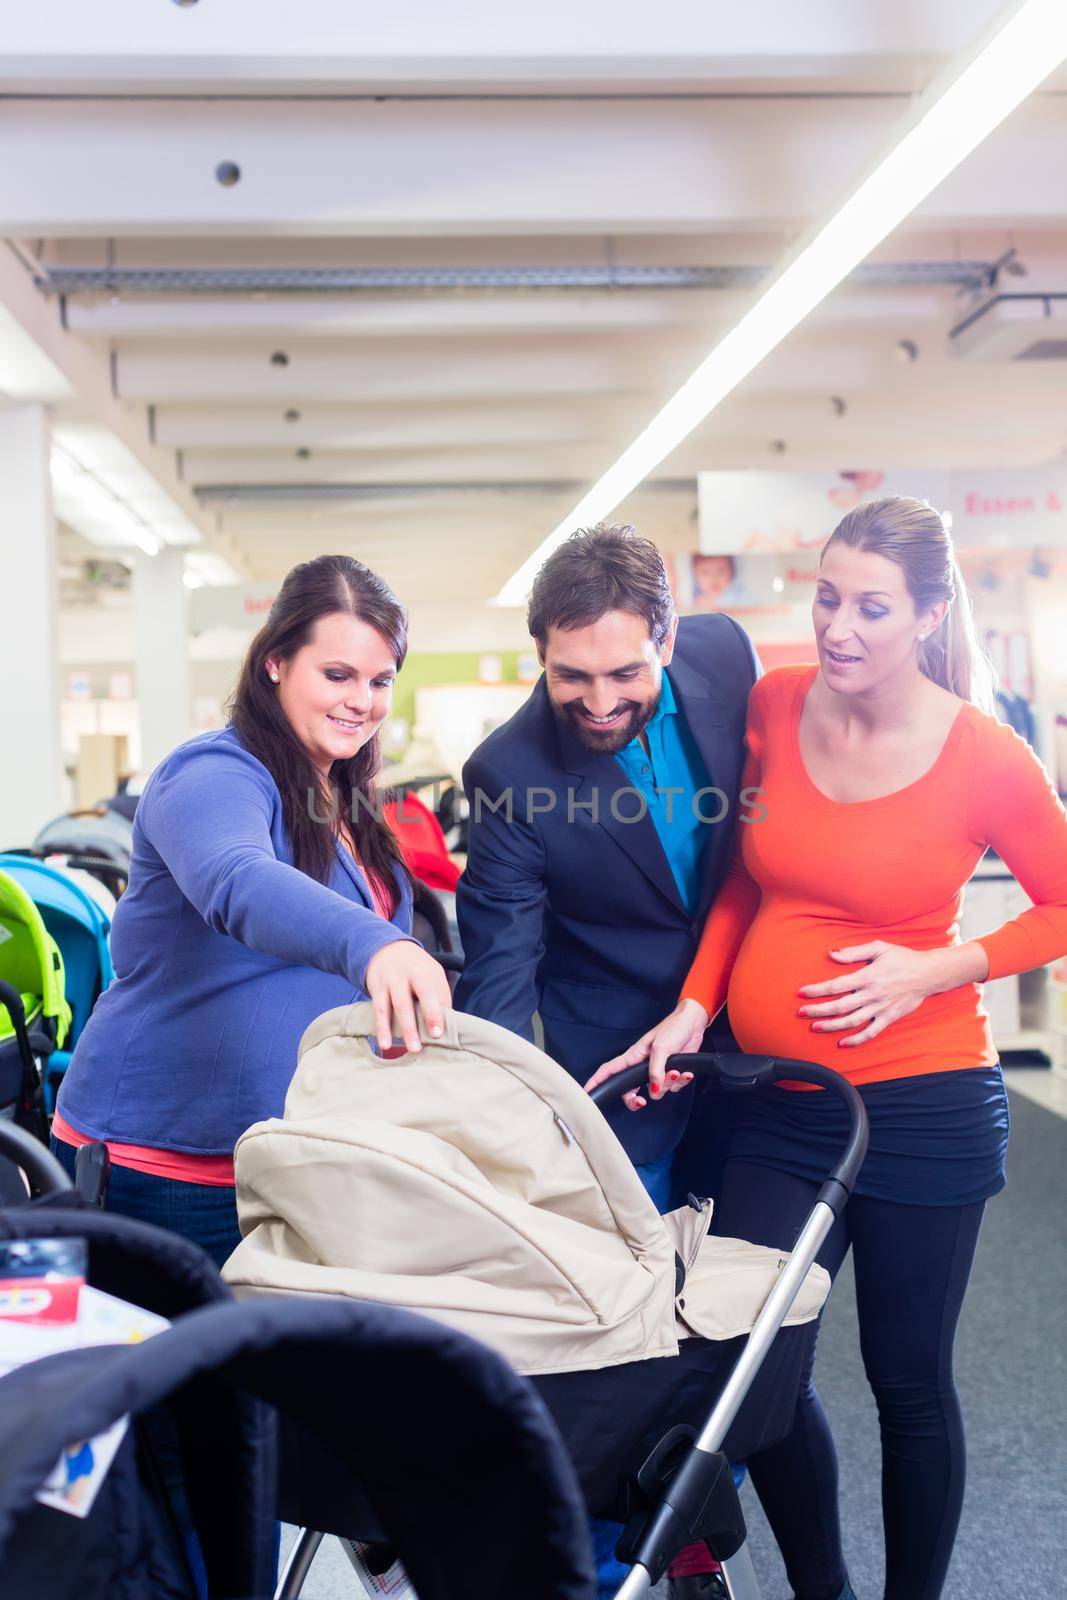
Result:
[[[907,102],[32,101],[0,104],[0,234],[625,234],[792,229]],[[14,152],[18,150],[18,157]],[[219,163],[240,182],[222,187]],[[1035,96],[918,213],[1062,219],[1067,110]]]

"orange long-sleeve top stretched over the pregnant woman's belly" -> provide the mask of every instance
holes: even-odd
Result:
[[[977,984],[928,995],[848,1050],[841,1034],[816,1034],[797,1014],[811,1003],[798,990],[849,971],[830,950],[872,939],[913,950],[958,944],[963,890],[990,845],[1033,904],[979,939],[989,978],[1064,955],[1064,806],[1025,741],[969,704],[915,782],[877,800],[830,800],[811,781],[798,739],[816,670],[779,667],[752,690],[744,789],[758,789],[758,803],[741,813],[681,995],[712,1016],[728,1002],[744,1051],[817,1061],[854,1083],[992,1066]]]

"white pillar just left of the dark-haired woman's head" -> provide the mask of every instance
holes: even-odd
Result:
[[[133,574],[141,763],[150,771],[192,733],[187,590],[178,549],[138,555]]]

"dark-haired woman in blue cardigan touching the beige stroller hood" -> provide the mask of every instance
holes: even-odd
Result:
[[[109,1208],[238,1242],[234,1146],[278,1117],[304,1029],[370,995],[378,1038],[419,1048],[450,1005],[411,939],[411,882],[374,790],[406,614],[360,562],[296,566],[221,733],[152,773],[112,930],[117,979],[64,1077],[53,1149],[107,1142]]]

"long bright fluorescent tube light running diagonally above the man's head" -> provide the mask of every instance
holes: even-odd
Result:
[[[845,203],[798,240],[755,304],[643,434],[509,578],[498,605],[523,605],[541,563],[600,522],[1067,58],[1067,0],[1016,0],[918,98]]]

